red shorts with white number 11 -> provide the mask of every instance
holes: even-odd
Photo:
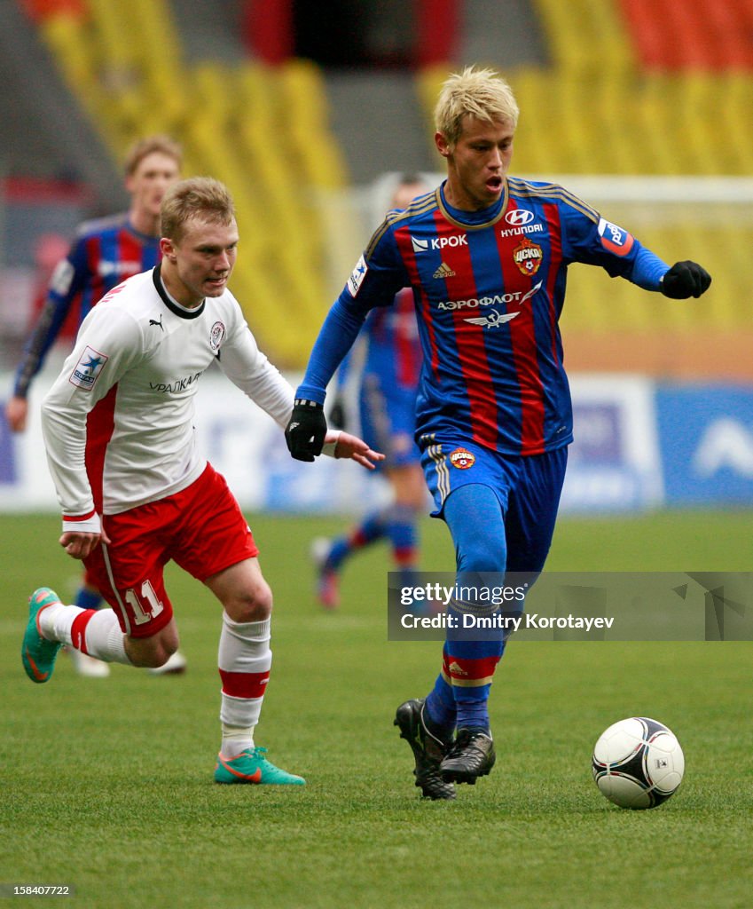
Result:
[[[163,566],[173,560],[199,581],[259,554],[224,477],[211,464],[183,492],[105,514],[110,543],[84,559],[87,574],[130,637],[151,637],[173,617]]]

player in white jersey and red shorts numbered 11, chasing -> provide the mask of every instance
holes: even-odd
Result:
[[[81,326],[46,395],[43,430],[63,508],[65,552],[83,559],[112,610],[32,594],[22,658],[48,681],[62,644],[107,662],[160,666],[178,648],[163,582],[169,560],[223,605],[218,783],[302,784],[256,747],[272,664],[272,592],[223,477],[197,452],[193,395],[217,362],[284,427],[292,387],[259,351],[227,289],[238,243],[233,200],[209,177],[173,185],[162,206],[162,262],[114,288]],[[346,433],[329,453],[373,467],[382,455]]]

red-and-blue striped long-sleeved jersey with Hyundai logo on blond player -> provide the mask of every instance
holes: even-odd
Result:
[[[669,268],[560,185],[510,177],[481,212],[451,208],[443,186],[420,196],[372,236],[296,397],[323,401],[366,313],[410,286],[423,351],[416,438],[460,437],[503,454],[568,445],[559,320],[576,262],[655,291]]]

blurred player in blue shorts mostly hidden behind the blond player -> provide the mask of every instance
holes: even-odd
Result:
[[[391,197],[391,207],[404,209],[429,186],[419,176],[402,175]],[[426,502],[421,453],[413,441],[416,393],[421,372],[413,295],[401,290],[389,308],[374,309],[361,335],[362,349],[343,360],[337,374],[338,393],[330,423],[346,428],[347,404],[343,388],[353,371],[359,375],[361,433],[386,457],[377,464],[391,486],[391,502],[366,514],[346,534],[334,540],[313,541],[317,595],[327,609],[340,602],[338,575],[345,561],[366,546],[387,538],[395,570],[403,584],[411,584],[418,560],[418,517]],[[353,351],[353,353],[356,353]],[[362,360],[359,367],[353,361]]]

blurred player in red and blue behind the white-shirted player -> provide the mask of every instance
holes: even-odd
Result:
[[[160,206],[168,187],[180,176],[183,152],[166,135],[153,135],[134,143],[124,161],[125,188],[131,196],[127,212],[84,222],[73,245],[54,269],[45,306],[24,348],[15,373],[13,396],[5,407],[8,425],[15,433],[26,427],[29,388],[45,365],[45,357],[73,312],[81,325],[89,310],[126,278],[154,268],[160,257]],[[103,599],[86,575],[74,603],[98,609]],[[72,652],[82,675],[102,676],[109,666],[86,654]],[[163,672],[185,668],[183,654],[173,656]]]

